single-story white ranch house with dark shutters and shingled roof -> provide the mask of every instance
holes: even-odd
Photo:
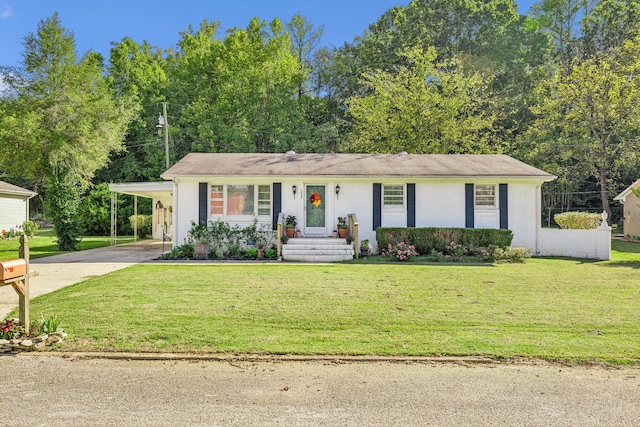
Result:
[[[275,224],[295,215],[303,237],[327,237],[357,216],[375,248],[378,227],[505,228],[538,249],[540,187],[555,176],[506,155],[192,153],[173,181],[173,242],[191,222]]]

